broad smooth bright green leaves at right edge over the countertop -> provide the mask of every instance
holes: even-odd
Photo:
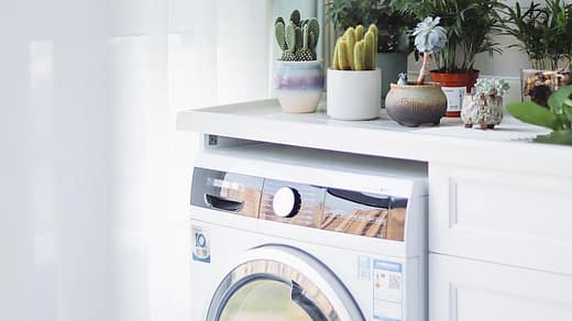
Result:
[[[522,122],[552,130],[548,135],[539,135],[534,141],[548,144],[572,145],[572,86],[565,86],[552,93],[544,107],[532,102],[516,102],[506,107],[508,112]]]

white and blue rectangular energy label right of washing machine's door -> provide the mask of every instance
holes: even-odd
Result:
[[[400,263],[373,261],[373,319],[402,321],[403,267]]]

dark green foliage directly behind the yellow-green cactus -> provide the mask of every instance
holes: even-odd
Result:
[[[409,31],[415,18],[393,10],[391,0],[331,0],[326,3],[326,19],[333,24],[336,34],[342,35],[354,25],[376,24],[378,53],[407,53],[413,51]]]

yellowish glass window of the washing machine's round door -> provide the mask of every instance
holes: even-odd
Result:
[[[230,297],[220,320],[312,321],[299,305],[293,302],[290,294],[292,287],[283,281],[250,281]]]

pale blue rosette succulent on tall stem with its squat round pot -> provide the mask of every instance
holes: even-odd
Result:
[[[385,98],[385,109],[389,118],[406,126],[439,124],[447,111],[447,97],[438,82],[426,82],[431,54],[439,53],[447,44],[447,35],[439,25],[440,18],[426,18],[414,31],[415,45],[424,59],[417,81],[400,79],[392,84]],[[405,74],[403,77],[405,78]]]

